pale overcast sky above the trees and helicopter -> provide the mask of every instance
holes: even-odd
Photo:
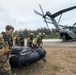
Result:
[[[41,13],[39,4],[44,13],[55,12],[76,6],[76,0],[0,0],[0,32],[5,30],[6,25],[14,26],[15,30],[46,27],[43,18],[34,13],[34,9]],[[59,16],[55,18],[57,21]],[[66,12],[62,15],[60,24],[73,25],[76,22],[76,9]],[[48,24],[49,28],[55,28]]]

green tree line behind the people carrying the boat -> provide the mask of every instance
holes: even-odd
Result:
[[[17,33],[23,33],[24,35],[24,38],[27,38],[29,36],[30,33],[33,33],[34,34],[34,38],[38,35],[38,33],[42,33],[44,32],[46,34],[46,39],[49,39],[49,38],[59,38],[59,33],[56,31],[56,29],[47,29],[47,28],[39,28],[37,30],[28,30],[28,29],[24,29],[24,30],[16,30],[14,32],[14,36],[17,34]]]

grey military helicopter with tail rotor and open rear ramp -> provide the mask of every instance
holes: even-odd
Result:
[[[63,13],[67,12],[67,11],[70,11],[70,10],[73,10],[76,8],[76,6],[73,6],[73,7],[70,7],[70,8],[66,8],[66,9],[63,9],[63,10],[60,10],[54,14],[51,14],[49,11],[47,11],[45,14],[43,12],[43,9],[41,7],[41,5],[39,5],[40,9],[41,9],[41,13],[39,13],[38,11],[34,10],[34,12],[40,16],[42,16],[44,18],[44,21],[46,22],[46,25],[49,29],[49,26],[48,26],[48,23],[51,23],[53,24],[55,27],[56,27],[56,30],[59,32],[60,34],[60,38],[63,40],[63,41],[69,41],[69,40],[73,40],[73,41],[76,41],[76,23],[73,24],[73,26],[63,26],[63,25],[59,25],[59,22],[60,22],[60,19],[61,19],[61,16]],[[55,18],[57,16],[59,16],[59,20],[58,22],[55,20]],[[49,22],[49,20],[51,22]]]

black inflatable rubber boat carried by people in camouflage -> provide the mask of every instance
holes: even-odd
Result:
[[[11,67],[25,67],[34,62],[43,59],[46,55],[45,49],[38,48],[30,48],[23,46],[14,46],[11,49],[12,55],[10,58]]]

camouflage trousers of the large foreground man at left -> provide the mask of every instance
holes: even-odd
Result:
[[[5,62],[2,62],[4,60]],[[0,56],[0,75],[12,75],[9,58],[7,59],[6,55]]]

